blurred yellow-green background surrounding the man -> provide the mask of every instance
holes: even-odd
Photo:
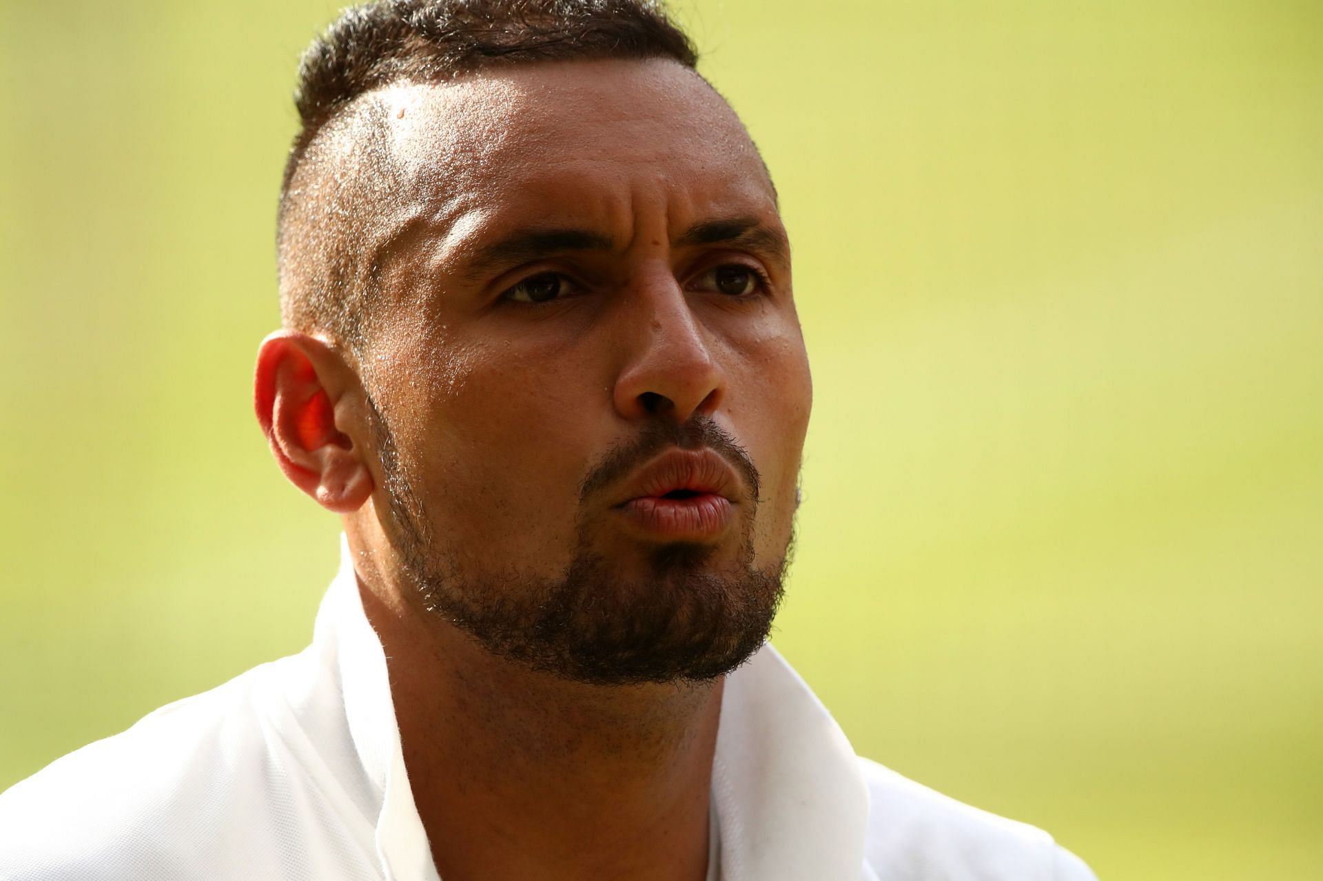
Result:
[[[3,0],[0,787],[298,651],[249,405],[324,0]],[[1323,4],[684,3],[816,411],[777,646],[1106,878],[1323,864]]]

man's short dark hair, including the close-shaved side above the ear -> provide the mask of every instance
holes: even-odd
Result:
[[[365,341],[374,267],[363,266],[357,251],[376,200],[351,190],[386,172],[388,148],[372,143],[373,127],[357,131],[366,143],[356,156],[366,168],[295,185],[299,168],[315,161],[319,135],[356,112],[360,98],[400,82],[446,82],[499,66],[615,58],[697,65],[693,44],[656,0],[378,0],[341,12],[303,53],[294,90],[302,127],[284,165],[277,220],[284,325],[328,332],[355,349]],[[389,193],[382,183],[366,188]]]

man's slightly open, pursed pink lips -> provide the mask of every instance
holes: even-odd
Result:
[[[713,542],[734,523],[741,483],[710,450],[672,450],[650,462],[614,507],[626,526],[650,541]]]

